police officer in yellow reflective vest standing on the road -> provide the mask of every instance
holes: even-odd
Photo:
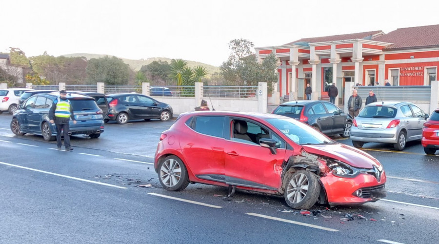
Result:
[[[65,90],[60,91],[60,97],[55,99],[50,107],[49,119],[50,123],[57,125],[57,146],[58,150],[61,150],[61,129],[64,135],[64,146],[66,151],[72,151],[70,147],[69,136],[69,121],[72,118],[73,123],[76,124],[75,115],[73,114],[73,108],[70,105],[70,101],[67,99],[67,92]]]

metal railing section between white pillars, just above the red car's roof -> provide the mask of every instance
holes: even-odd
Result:
[[[257,98],[258,86],[203,86],[203,97]]]

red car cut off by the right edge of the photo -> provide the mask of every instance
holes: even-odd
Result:
[[[424,123],[421,142],[426,154],[433,155],[439,149],[439,108]]]

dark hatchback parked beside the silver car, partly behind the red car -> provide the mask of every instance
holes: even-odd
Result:
[[[327,136],[349,137],[351,133],[353,118],[331,102],[310,100],[284,102],[272,113],[307,123]]]

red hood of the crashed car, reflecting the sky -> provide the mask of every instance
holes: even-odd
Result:
[[[341,143],[325,144],[325,145],[302,145],[303,149],[308,153],[326,156],[347,163],[357,168],[373,168],[373,165],[379,167],[381,163],[355,147]]]

